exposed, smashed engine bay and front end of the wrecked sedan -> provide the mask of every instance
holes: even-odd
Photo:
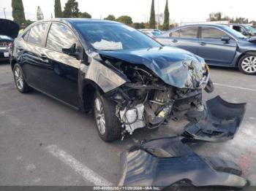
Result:
[[[214,89],[207,66],[197,69],[193,62],[184,63],[193,73],[193,88],[179,88],[167,85],[145,66],[105,59],[129,81],[106,94],[117,103],[116,116],[124,128],[123,135],[138,128],[158,128],[169,118],[183,117],[191,110],[203,114],[202,90],[211,93]]]

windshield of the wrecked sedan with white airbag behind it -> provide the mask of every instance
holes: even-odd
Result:
[[[76,23],[86,39],[97,50],[134,50],[161,47],[161,44],[129,26],[116,23]]]

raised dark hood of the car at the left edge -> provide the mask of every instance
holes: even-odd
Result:
[[[18,36],[19,25],[12,20],[0,19],[0,35],[10,36],[12,39]]]

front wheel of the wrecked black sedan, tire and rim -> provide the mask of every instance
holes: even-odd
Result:
[[[121,123],[116,117],[116,104],[96,93],[94,96],[94,120],[99,137],[106,142],[121,139]]]

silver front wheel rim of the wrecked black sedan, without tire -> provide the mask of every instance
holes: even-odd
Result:
[[[99,133],[104,135],[106,130],[105,114],[103,110],[102,101],[99,98],[95,99],[94,107],[97,128],[99,130]]]

